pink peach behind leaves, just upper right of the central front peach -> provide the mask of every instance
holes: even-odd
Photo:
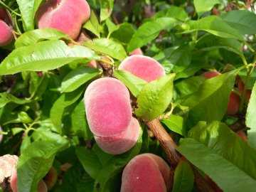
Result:
[[[119,70],[127,70],[147,82],[156,80],[165,75],[163,66],[154,58],[144,55],[132,55],[125,58],[119,65]]]

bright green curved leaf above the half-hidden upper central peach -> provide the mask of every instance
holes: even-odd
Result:
[[[132,39],[128,44],[128,52],[132,52],[132,50],[136,48],[145,46],[159,36],[161,31],[174,28],[177,24],[178,21],[175,18],[170,17],[156,18],[153,21],[143,23],[132,36]]]

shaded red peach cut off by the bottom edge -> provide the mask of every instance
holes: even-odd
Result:
[[[121,192],[166,192],[170,176],[164,159],[154,154],[139,154],[124,168]]]

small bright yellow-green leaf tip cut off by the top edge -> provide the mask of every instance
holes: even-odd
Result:
[[[201,16],[204,12],[213,9],[215,4],[220,4],[220,0],[194,0],[193,3],[195,5],[196,12]]]

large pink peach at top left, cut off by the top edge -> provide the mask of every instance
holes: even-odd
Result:
[[[90,18],[85,0],[48,0],[38,10],[38,28],[55,28],[76,39],[82,23]]]

